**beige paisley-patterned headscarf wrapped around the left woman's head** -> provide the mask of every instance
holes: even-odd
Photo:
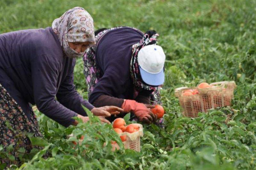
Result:
[[[84,8],[75,7],[66,11],[52,22],[52,29],[59,37],[60,45],[69,58],[81,57],[86,51],[77,53],[69,47],[68,42],[90,42],[88,48],[96,44],[93,19]]]

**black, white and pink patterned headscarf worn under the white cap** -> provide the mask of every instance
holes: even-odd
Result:
[[[138,91],[140,91],[141,89],[155,91],[161,88],[160,86],[151,86],[143,82],[140,75],[139,62],[138,62],[138,53],[140,49],[146,45],[156,45],[157,36],[158,34],[156,33],[156,31],[154,30],[147,31],[144,34],[142,40],[140,40],[139,43],[136,43],[132,46],[132,59],[131,59],[131,65],[130,65],[130,73],[131,73],[133,85]]]

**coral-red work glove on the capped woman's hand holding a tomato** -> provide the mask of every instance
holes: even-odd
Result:
[[[153,122],[155,121],[155,116],[149,108],[147,108],[143,103],[138,103],[135,100],[125,100],[122,109],[124,112],[132,112],[141,122]]]

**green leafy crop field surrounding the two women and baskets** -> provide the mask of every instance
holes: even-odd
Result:
[[[31,141],[41,148],[29,154],[20,148],[22,162],[13,161],[12,169],[256,169],[255,0],[1,0],[0,33],[51,26],[75,6],[92,15],[95,29],[132,26],[159,33],[166,54],[165,127],[143,124],[141,152],[113,152],[111,140],[121,140],[111,125],[91,118],[64,128],[36,112],[44,138]],[[197,118],[182,115],[175,88],[233,80],[232,107]],[[87,98],[81,58],[75,84]],[[72,141],[82,135],[83,144],[75,146]],[[13,160],[9,152],[12,147],[3,152],[0,146],[1,159]]]

